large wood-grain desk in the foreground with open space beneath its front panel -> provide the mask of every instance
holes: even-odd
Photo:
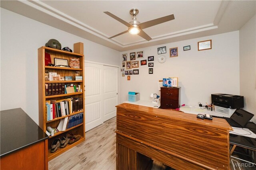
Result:
[[[229,130],[224,119],[133,104],[116,116],[117,170],[150,169],[152,160],[176,170],[229,169]]]

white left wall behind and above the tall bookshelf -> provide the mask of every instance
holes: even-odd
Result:
[[[118,51],[1,8],[1,110],[21,107],[38,123],[37,49],[52,38],[84,43],[86,60],[120,64]]]

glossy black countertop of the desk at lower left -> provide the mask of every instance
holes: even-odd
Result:
[[[49,138],[21,108],[1,111],[0,119],[1,157]]]

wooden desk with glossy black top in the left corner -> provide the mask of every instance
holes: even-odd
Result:
[[[1,170],[47,170],[48,135],[21,108],[0,116]]]

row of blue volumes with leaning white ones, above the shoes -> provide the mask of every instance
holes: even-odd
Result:
[[[69,129],[71,127],[74,127],[83,123],[83,120],[84,120],[84,113],[78,113],[70,117],[65,117],[64,119],[60,120],[60,123],[57,129],[59,131],[66,131],[66,129]]]

